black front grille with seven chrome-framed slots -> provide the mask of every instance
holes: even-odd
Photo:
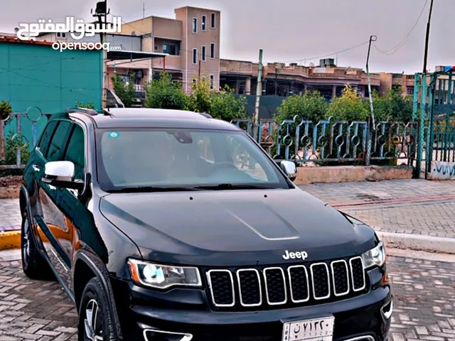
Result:
[[[366,288],[360,256],[288,267],[212,269],[206,274],[216,308],[312,305],[357,296]]]

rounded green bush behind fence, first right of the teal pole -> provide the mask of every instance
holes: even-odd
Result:
[[[281,123],[284,119],[294,119],[297,115],[297,123],[300,123],[300,119],[318,123],[326,116],[327,109],[328,103],[319,92],[307,90],[302,96],[293,94],[284,99],[274,118]]]

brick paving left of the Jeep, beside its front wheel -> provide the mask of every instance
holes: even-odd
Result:
[[[0,340],[77,340],[73,302],[56,281],[32,281],[21,261],[0,262]]]

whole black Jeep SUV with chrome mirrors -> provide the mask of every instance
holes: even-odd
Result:
[[[24,171],[23,271],[79,340],[387,340],[382,243],[295,177],[207,114],[68,109]]]

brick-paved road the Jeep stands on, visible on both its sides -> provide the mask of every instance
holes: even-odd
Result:
[[[0,252],[0,340],[77,340],[75,309],[63,289],[26,278],[20,261],[11,261],[17,258]],[[455,341],[455,263],[390,257],[389,271],[391,341]]]

